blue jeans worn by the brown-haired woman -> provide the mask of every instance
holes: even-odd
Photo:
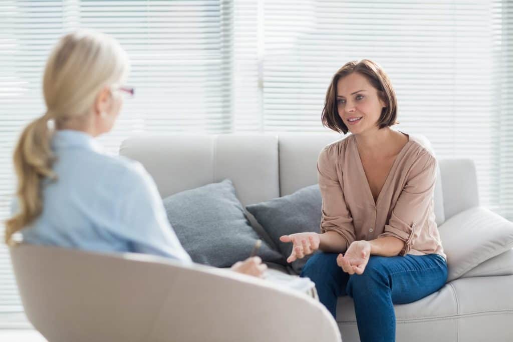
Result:
[[[349,295],[361,342],[396,340],[393,304],[419,300],[444,286],[447,263],[438,254],[372,255],[363,274],[349,275],[337,265],[337,253],[314,254],[301,272],[309,277],[319,300],[336,317],[337,298]]]

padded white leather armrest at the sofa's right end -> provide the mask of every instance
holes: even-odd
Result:
[[[447,281],[513,248],[513,223],[481,207],[452,216],[439,231],[447,255]]]

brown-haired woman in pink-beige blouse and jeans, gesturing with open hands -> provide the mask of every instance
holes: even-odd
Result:
[[[352,134],[318,159],[321,233],[281,237],[289,262],[320,249],[302,270],[336,316],[349,295],[362,342],[394,341],[393,304],[416,301],[447,279],[435,213],[437,160],[416,138],[393,130],[397,99],[389,78],[368,59],[345,64],[326,93],[322,122]]]

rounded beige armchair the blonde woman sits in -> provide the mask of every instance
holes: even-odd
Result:
[[[10,254],[27,317],[50,342],[340,341],[318,301],[228,270],[35,245]]]

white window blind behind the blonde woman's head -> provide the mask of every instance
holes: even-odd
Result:
[[[57,39],[76,28],[113,35],[131,58],[129,85],[113,131],[99,138],[117,153],[142,132],[232,129],[232,12],[230,2],[4,1],[0,3],[0,215],[14,191],[12,150],[22,128],[45,111],[42,75]],[[7,249],[0,247],[0,328],[27,326]]]

